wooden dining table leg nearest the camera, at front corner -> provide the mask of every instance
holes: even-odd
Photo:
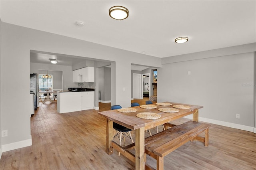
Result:
[[[144,170],[145,169],[145,132],[144,127],[136,129],[135,136],[135,169]]]

